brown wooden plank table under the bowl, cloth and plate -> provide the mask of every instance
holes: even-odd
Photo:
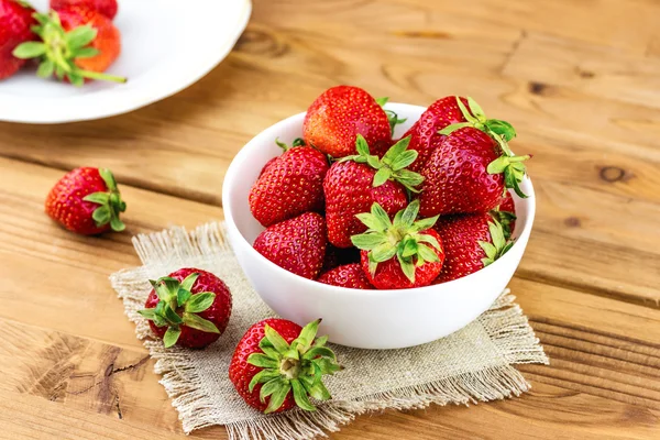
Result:
[[[184,438],[108,275],[139,264],[132,234],[222,218],[239,148],[341,82],[417,105],[471,95],[516,125],[538,218],[510,287],[551,365],[520,367],[521,398],[331,437],[660,438],[659,21],[656,0],[260,0],[229,58],[175,97],[0,123],[0,438]],[[128,232],[80,238],[43,213],[81,165],[116,173]]]

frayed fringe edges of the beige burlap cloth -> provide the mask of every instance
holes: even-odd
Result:
[[[229,250],[222,226],[218,222],[200,226],[189,233],[184,228],[175,227],[160,233],[141,234],[133,238],[133,244],[145,264],[164,265],[172,258],[194,265],[195,261],[208,260]],[[156,359],[154,370],[163,375],[160,382],[179,413],[184,431],[190,433],[195,429],[217,425],[207,417],[207,409],[213,407],[211,396],[202,392],[201,377],[187,351],[166,350],[161,341],[150,339],[151,330],[136,312],[143,307],[144,296],[134,294],[143,288],[147,275],[144,271],[132,270],[130,273],[131,276],[128,276],[129,271],[113,274],[110,277],[112,287],[123,299],[127,316],[135,322],[138,337],[144,341],[152,358]],[[509,364],[548,364],[539,340],[514,300],[515,296],[506,289],[477,321]],[[502,365],[354,400],[331,400],[319,406],[315,413],[293,410],[229,424],[226,428],[231,440],[308,440],[318,436],[327,437],[327,432],[338,431],[341,425],[369,411],[425,408],[430,404],[476,404],[519,396],[529,388],[529,383],[516,369]]]

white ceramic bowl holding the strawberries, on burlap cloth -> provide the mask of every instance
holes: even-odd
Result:
[[[424,107],[388,103],[387,109],[408,118],[397,127],[402,135],[425,111]],[[264,130],[232,161],[222,189],[229,241],[245,275],[277,315],[305,324],[322,318],[319,334],[330,341],[362,349],[398,349],[446,337],[479,317],[504,290],[520,263],[535,216],[529,179],[521,185],[527,199],[514,196],[518,219],[514,246],[490,266],[453,282],[403,290],[359,290],[329,286],[294,275],[252,248],[264,228],[252,217],[250,187],[262,166],[282,151],[275,139],[290,143],[301,135],[305,113]]]

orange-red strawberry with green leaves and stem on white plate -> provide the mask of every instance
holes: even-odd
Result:
[[[80,6],[70,6],[50,15],[34,14],[34,32],[43,42],[23,43],[13,52],[19,58],[38,58],[36,75],[55,75],[75,86],[87,79],[125,82],[127,78],[103,74],[121,52],[120,34],[110,19]]]

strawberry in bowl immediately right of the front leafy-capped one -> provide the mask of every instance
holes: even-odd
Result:
[[[513,245],[504,238],[502,224],[488,213],[442,217],[436,231],[442,238],[446,257],[433,284],[470,275],[499,258]]]

